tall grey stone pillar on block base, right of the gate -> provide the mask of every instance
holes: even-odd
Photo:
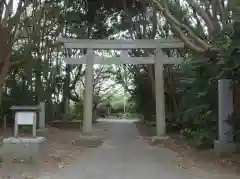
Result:
[[[218,81],[218,140],[214,143],[214,149],[218,153],[229,153],[236,150],[233,139],[233,129],[227,123],[233,113],[233,88],[231,79]]]

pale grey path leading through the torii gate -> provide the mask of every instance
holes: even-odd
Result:
[[[235,179],[199,168],[179,169],[176,153],[149,146],[138,136],[135,124],[111,122],[101,147],[86,150],[73,164],[41,179]]]

